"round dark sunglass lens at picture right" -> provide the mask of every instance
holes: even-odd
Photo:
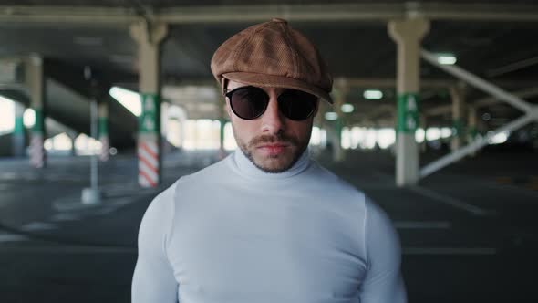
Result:
[[[278,96],[278,106],[286,118],[305,120],[316,110],[317,97],[307,92],[286,89]]]

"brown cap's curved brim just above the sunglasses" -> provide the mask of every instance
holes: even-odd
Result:
[[[333,99],[324,89],[320,89],[295,78],[245,72],[225,73],[222,74],[222,77],[235,82],[262,88],[299,89],[313,94],[319,99],[325,99],[327,102],[333,104]]]

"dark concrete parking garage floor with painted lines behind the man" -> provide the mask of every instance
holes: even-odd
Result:
[[[0,160],[0,302],[129,302],[151,198],[214,158],[171,154],[162,186],[141,190],[134,158],[115,157],[100,167],[106,200],[96,207],[78,207],[88,158],[51,158],[43,172],[26,160]],[[537,159],[484,151],[398,189],[388,152],[348,152],[340,164],[318,157],[388,212],[402,241],[409,302],[419,303],[538,301]]]

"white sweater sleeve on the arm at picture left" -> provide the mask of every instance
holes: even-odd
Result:
[[[178,301],[178,283],[166,254],[173,223],[175,186],[160,193],[142,218],[139,256],[131,287],[132,303],[173,303]]]

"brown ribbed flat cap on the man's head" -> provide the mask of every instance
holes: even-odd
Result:
[[[333,78],[316,47],[283,19],[250,26],[222,43],[213,76],[257,87],[299,89],[333,103]]]

